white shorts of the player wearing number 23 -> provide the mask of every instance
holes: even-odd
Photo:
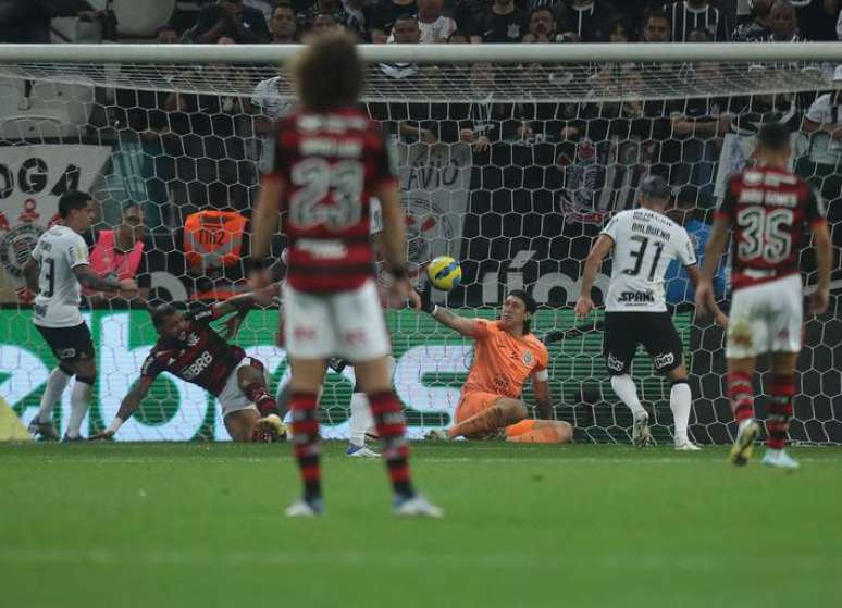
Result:
[[[351,363],[385,357],[392,345],[374,281],[338,294],[284,288],[284,340],[289,357],[342,357]]]

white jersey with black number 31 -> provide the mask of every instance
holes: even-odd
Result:
[[[614,240],[614,269],[606,312],[664,312],[664,275],[674,259],[691,266],[696,252],[686,231],[648,209],[617,213],[602,234]]]

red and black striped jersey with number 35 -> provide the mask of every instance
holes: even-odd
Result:
[[[803,177],[769,167],[732,175],[716,214],[733,231],[734,289],[800,272],[805,224],[827,221],[821,199]]]

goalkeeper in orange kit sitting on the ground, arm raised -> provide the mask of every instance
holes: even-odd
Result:
[[[573,427],[553,420],[547,347],[531,332],[535,300],[520,289],[503,303],[499,321],[465,319],[430,300],[430,288],[421,296],[421,309],[436,321],[473,338],[474,355],[462,395],[456,406],[456,424],[450,438],[482,439],[505,435],[509,442],[561,444],[573,436]],[[537,420],[520,398],[523,383],[532,376]]]

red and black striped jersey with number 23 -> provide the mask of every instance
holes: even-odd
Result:
[[[355,289],[372,276],[369,204],[397,179],[377,124],[348,108],[299,111],[278,124],[264,178],[283,181],[283,229],[289,238],[287,281],[308,293]]]

